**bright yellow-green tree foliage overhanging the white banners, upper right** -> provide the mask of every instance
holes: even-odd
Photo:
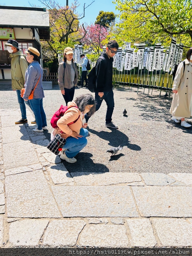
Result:
[[[191,45],[191,0],[115,0],[113,3],[120,11],[117,26],[121,32],[117,39],[169,44],[174,36],[186,47]]]

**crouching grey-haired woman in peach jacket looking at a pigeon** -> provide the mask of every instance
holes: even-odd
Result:
[[[88,131],[85,129],[87,123],[84,115],[95,112],[95,100],[91,94],[83,94],[68,102],[67,106],[68,110],[57,121],[58,127],[51,133],[51,140],[56,134],[66,139],[60,158],[68,163],[76,163],[74,157],[87,145]]]

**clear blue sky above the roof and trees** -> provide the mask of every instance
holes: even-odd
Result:
[[[61,1],[58,0],[59,3],[66,3],[66,0]],[[83,4],[86,3],[86,6],[89,5],[92,1],[91,0],[79,0],[80,6],[78,7],[78,13],[83,12]],[[29,0],[29,3],[33,3],[34,5],[45,7],[43,6],[38,0]],[[0,4],[3,5],[9,5],[9,6],[27,6],[30,7],[26,0],[0,0]],[[69,5],[71,5],[72,0],[69,0]],[[115,10],[115,4],[112,3],[112,0],[95,0],[94,3],[92,3],[86,10],[85,10],[85,17],[80,20],[80,23],[87,23],[88,25],[91,22],[95,22],[97,15],[99,14],[99,11],[103,10],[104,12],[114,12],[115,14],[118,13],[118,11]]]

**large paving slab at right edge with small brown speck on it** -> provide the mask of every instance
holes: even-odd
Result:
[[[192,187],[132,187],[142,217],[192,217]]]

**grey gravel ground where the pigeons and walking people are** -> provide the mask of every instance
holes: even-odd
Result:
[[[50,119],[61,104],[65,104],[58,86],[45,90],[44,110],[47,116],[50,140],[52,127]],[[86,88],[75,90],[77,95],[88,93]],[[63,164],[69,172],[155,172],[191,173],[192,129],[185,129],[171,120],[169,109],[172,98],[158,98],[153,90],[147,97],[148,89],[115,89],[115,109],[112,121],[119,129],[105,127],[106,103],[89,119],[87,146],[76,156],[77,163]],[[164,95],[165,92],[162,92]],[[6,100],[5,100],[6,99]],[[8,84],[0,84],[0,108],[18,109],[16,92]],[[122,112],[126,108],[127,117]],[[189,119],[190,124],[192,122]],[[13,120],[15,121],[15,120]],[[119,154],[112,157],[106,150],[111,146],[123,146]]]

